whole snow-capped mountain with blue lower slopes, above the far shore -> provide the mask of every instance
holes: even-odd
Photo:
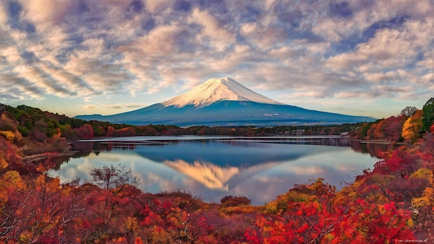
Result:
[[[374,121],[368,116],[351,116],[279,103],[244,87],[231,78],[213,78],[189,92],[148,107],[103,116],[79,115],[76,119],[130,125],[178,126],[275,126],[342,124]]]

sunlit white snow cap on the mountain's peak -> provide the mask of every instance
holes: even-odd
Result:
[[[252,101],[283,105],[283,103],[253,92],[231,78],[209,79],[189,92],[164,101],[163,105],[165,107],[171,105],[175,107],[184,107],[185,105],[202,107],[217,101]]]

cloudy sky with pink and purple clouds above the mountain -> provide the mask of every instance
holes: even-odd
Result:
[[[434,96],[433,0],[0,0],[0,103],[76,116],[230,77],[377,119]]]

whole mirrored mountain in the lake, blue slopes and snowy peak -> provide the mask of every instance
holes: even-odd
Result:
[[[189,141],[182,147],[178,144],[138,146],[135,153],[154,162],[162,162],[208,189],[228,191],[257,173],[279,164],[336,149],[339,148],[245,141]]]

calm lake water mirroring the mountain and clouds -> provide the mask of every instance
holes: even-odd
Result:
[[[379,148],[383,147],[383,148]],[[277,195],[324,178],[338,189],[373,168],[385,145],[338,137],[120,137],[77,141],[83,154],[53,175],[62,182],[89,179],[92,168],[123,164],[150,193],[180,189],[207,202],[245,195],[264,204]]]

